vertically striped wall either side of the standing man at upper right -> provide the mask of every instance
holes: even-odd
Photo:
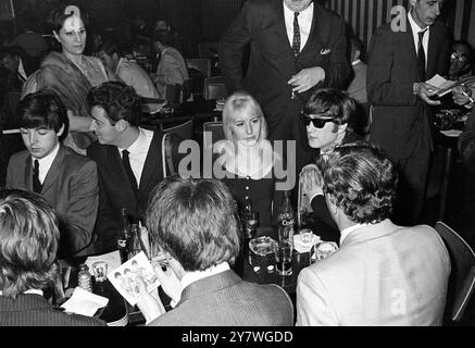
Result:
[[[408,0],[327,0],[326,7],[340,14],[366,48],[373,32],[391,20],[391,8],[408,5]],[[446,0],[442,20],[454,39],[463,39],[475,47],[475,0]]]

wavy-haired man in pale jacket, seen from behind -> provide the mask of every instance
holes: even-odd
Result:
[[[341,146],[318,166],[340,248],[300,272],[297,325],[441,325],[449,254],[434,228],[389,220],[391,162],[367,146]]]

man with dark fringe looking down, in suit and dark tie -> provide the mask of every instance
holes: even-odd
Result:
[[[96,163],[60,144],[67,115],[58,96],[39,91],[17,105],[26,150],[10,159],[7,186],[41,194],[54,207],[61,231],[59,258],[83,254],[98,211]]]

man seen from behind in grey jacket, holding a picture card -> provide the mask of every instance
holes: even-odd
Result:
[[[162,288],[176,303],[163,306],[139,283],[138,307],[154,326],[289,326],[290,298],[277,285],[242,281],[233,270],[239,253],[236,203],[217,179],[165,178],[152,192],[147,227],[170,258],[166,272],[155,266]],[[153,261],[152,261],[153,262]]]

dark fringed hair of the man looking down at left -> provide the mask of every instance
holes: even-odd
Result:
[[[16,105],[16,120],[22,128],[47,128],[67,134],[66,108],[53,91],[40,90],[26,95]]]

